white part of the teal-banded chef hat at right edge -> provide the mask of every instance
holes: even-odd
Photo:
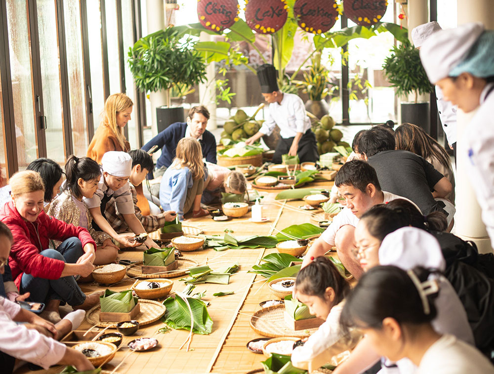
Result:
[[[428,38],[420,48],[420,60],[429,80],[437,83],[448,77],[483,32],[481,22],[471,22],[454,29],[440,30]]]

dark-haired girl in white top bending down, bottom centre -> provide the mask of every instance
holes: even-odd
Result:
[[[303,346],[291,355],[293,366],[300,369],[326,364],[330,357],[352,349],[362,337],[356,330],[341,329],[339,317],[350,285],[328,257],[320,256],[300,270],[295,280],[294,296],[309,307],[312,315],[325,322]]]

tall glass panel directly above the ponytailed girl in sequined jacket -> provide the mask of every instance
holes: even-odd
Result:
[[[67,73],[69,77],[70,114],[74,154],[86,155],[88,147],[86,102],[82,67],[81,9],[78,3],[64,0]]]

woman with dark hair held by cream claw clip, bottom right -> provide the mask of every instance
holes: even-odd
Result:
[[[439,291],[437,279],[423,268],[377,266],[347,297],[340,321],[361,329],[379,355],[397,362],[409,359],[416,373],[494,373],[476,348],[432,325]]]

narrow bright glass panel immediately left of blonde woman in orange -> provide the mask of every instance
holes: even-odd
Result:
[[[91,73],[91,97],[94,130],[101,121],[105,108],[103,88],[103,57],[101,54],[101,11],[99,0],[87,0],[87,37],[89,40],[89,70]]]

